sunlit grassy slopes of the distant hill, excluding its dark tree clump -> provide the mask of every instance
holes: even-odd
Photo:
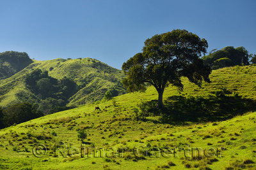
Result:
[[[81,105],[102,99],[105,92],[116,85],[124,74],[113,67],[95,59],[54,59],[36,61],[0,81],[0,106],[6,107],[13,103],[40,103],[40,97],[35,96],[26,85],[26,76],[35,69],[48,71],[49,76],[61,80],[64,77],[76,82],[78,92],[70,98],[68,105]],[[123,94],[124,90],[118,91]]]

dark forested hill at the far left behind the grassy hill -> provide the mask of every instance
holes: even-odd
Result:
[[[0,53],[0,80],[21,71],[32,62],[33,60],[29,59],[26,52],[8,51]]]

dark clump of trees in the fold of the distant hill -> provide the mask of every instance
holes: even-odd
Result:
[[[44,113],[54,107],[63,107],[68,103],[68,99],[77,92],[77,85],[67,77],[57,80],[48,75],[48,71],[35,69],[26,76],[26,84],[38,98],[38,109]],[[64,108],[63,108],[64,109]]]

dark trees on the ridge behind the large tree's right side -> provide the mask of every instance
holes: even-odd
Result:
[[[250,55],[243,46],[237,48],[234,48],[234,46],[227,46],[202,57],[204,64],[211,66],[212,69],[248,65],[249,58]]]

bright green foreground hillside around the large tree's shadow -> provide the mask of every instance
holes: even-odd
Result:
[[[38,64],[39,65],[39,64]],[[54,75],[54,73],[52,73]],[[214,91],[226,87],[239,94],[241,99],[255,99],[256,67],[227,67],[212,71],[210,84],[202,89],[184,78],[184,92],[168,87],[164,99],[170,96],[214,96]],[[232,96],[233,94],[230,94]],[[2,169],[255,169],[256,168],[256,112],[244,113],[218,122],[171,122],[164,124],[161,117],[134,120],[134,109],[141,101],[157,99],[157,92],[149,87],[145,93],[117,96],[98,103],[102,111],[95,111],[95,104],[13,125],[0,131],[0,168]],[[116,104],[115,102],[116,101]],[[231,104],[231,103],[230,103]],[[115,106],[114,106],[115,105]],[[234,106],[234,105],[231,105]],[[91,150],[104,148],[111,155],[111,148],[124,150],[120,157],[85,157],[80,153],[72,157],[54,157],[54,144],[64,143],[68,148],[81,148],[77,130],[88,134],[83,147]],[[33,146],[40,143],[47,153],[35,157]],[[57,146],[58,146],[57,145]],[[65,146],[64,145],[64,146]],[[63,145],[61,145],[63,146]],[[141,146],[141,147],[140,147]],[[173,154],[159,155],[166,147],[175,149]],[[191,147],[214,148],[217,155],[209,157],[184,156]],[[132,150],[140,148],[135,157]],[[57,152],[58,153],[57,149]],[[143,152],[144,150],[144,152]],[[147,150],[148,152],[145,152]],[[42,150],[41,150],[42,151]],[[71,152],[72,150],[70,150]],[[73,150],[76,152],[76,150]],[[113,151],[113,150],[112,150]],[[87,152],[87,151],[86,151]],[[103,151],[102,151],[103,152]],[[221,154],[220,154],[221,152]],[[136,152],[135,152],[136,153]],[[186,154],[191,152],[186,152]],[[202,152],[200,152],[201,154]],[[208,153],[208,152],[207,152]],[[40,156],[40,152],[36,153]]]

